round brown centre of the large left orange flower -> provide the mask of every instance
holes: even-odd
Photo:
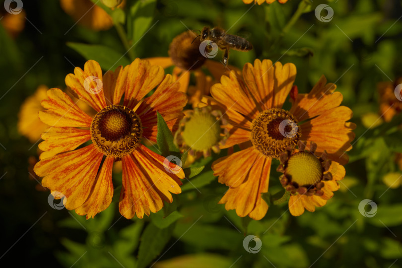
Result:
[[[133,110],[109,105],[95,115],[90,132],[93,144],[101,153],[119,158],[138,146],[142,125]]]

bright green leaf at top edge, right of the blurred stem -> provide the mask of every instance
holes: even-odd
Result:
[[[156,0],[137,1],[130,9],[129,38],[137,42],[151,26]]]

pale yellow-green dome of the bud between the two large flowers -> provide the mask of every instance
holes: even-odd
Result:
[[[183,141],[191,149],[203,151],[216,145],[221,137],[220,121],[210,112],[197,110],[187,122],[182,133]]]

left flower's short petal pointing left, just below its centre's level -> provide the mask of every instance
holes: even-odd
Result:
[[[75,149],[88,141],[91,134],[89,130],[52,127],[42,134],[42,138],[44,141],[38,145],[39,149],[44,151],[39,157],[40,160]]]

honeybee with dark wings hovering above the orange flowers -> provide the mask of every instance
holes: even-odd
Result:
[[[203,27],[199,36],[201,36],[201,42],[204,40],[211,40],[220,50],[225,51],[223,55],[223,64],[225,66],[227,66],[227,61],[229,59],[229,49],[237,51],[249,51],[253,49],[253,45],[245,38],[237,35],[226,34],[226,31],[220,27],[213,27],[212,29],[209,29],[209,27]]]

